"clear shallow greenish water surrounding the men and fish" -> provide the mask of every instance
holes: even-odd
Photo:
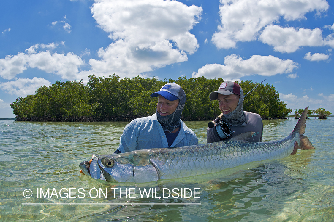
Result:
[[[79,163],[93,153],[116,150],[126,122],[0,120],[0,221],[334,221],[333,122],[333,117],[307,120],[305,135],[315,150],[298,150],[281,160],[204,179],[137,185],[111,184],[79,173]],[[264,120],[263,140],[287,136],[296,123]],[[186,125],[200,143],[206,142],[206,121]],[[95,198],[100,188],[104,193],[107,189],[107,198]],[[134,198],[126,196],[127,188]],[[157,192],[141,197],[144,188]],[[173,188],[187,188],[186,198],[175,193],[175,198],[158,198]],[[30,198],[23,195],[26,189],[32,192]],[[190,190],[200,198],[190,197]],[[104,203],[109,205],[97,205]]]

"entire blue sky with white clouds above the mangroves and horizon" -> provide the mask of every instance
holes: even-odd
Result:
[[[1,1],[0,117],[15,117],[10,104],[43,85],[114,73],[268,77],[264,84],[276,88],[287,108],[334,113],[333,6],[325,0]]]

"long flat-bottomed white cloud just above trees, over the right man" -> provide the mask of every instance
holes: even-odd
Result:
[[[224,65],[207,64],[198,69],[197,73],[193,72],[192,77],[205,76],[207,78],[236,80],[254,74],[274,76],[290,73],[295,68],[298,68],[298,64],[289,59],[281,60],[274,56],[253,55],[247,60],[242,60],[240,56],[232,54],[224,58]]]

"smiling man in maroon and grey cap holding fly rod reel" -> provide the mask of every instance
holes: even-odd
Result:
[[[238,84],[225,81],[209,97],[210,100],[218,100],[223,116],[213,128],[207,128],[208,143],[223,141],[244,132],[254,132],[249,142],[262,141],[262,118],[257,113],[243,111],[243,91]]]

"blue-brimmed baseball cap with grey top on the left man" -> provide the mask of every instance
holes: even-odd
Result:
[[[161,87],[159,92],[155,92],[151,94],[151,97],[158,97],[159,95],[163,96],[165,99],[174,101],[179,99],[181,101],[181,98],[184,96],[185,93],[178,84],[176,83],[167,83],[163,87]]]

